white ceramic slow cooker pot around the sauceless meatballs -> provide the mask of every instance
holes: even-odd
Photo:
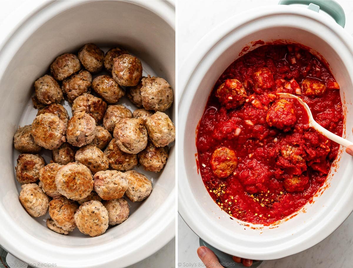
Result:
[[[30,123],[34,116],[29,102],[34,80],[47,71],[56,56],[88,42],[127,48],[143,61],[147,73],[166,78],[174,88],[174,7],[158,1],[45,2],[21,23],[0,50],[0,166],[5,175],[0,188],[0,244],[28,263],[81,268],[136,263],[174,236],[174,147],[161,175],[153,174],[151,196],[132,209],[129,224],[89,238],[79,233],[56,234],[24,211],[14,178],[12,136],[18,124]]]

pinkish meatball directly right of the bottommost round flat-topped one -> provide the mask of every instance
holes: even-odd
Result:
[[[108,211],[109,225],[121,224],[129,217],[130,208],[124,198],[108,200],[104,207]]]

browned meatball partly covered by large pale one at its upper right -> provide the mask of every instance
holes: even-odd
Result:
[[[137,154],[125,153],[120,150],[116,139],[112,139],[104,154],[108,158],[109,166],[115,170],[130,170],[137,166]]]

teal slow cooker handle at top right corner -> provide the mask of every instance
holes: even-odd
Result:
[[[336,22],[345,27],[346,24],[346,16],[343,8],[336,1],[332,0],[280,0],[279,5],[294,5],[294,4],[302,4],[308,5],[309,9],[319,12],[321,9],[329,14],[331,17],[336,20]]]

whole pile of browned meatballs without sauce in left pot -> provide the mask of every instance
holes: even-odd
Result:
[[[97,74],[103,68],[109,75]],[[126,50],[104,54],[95,44],[58,56],[34,87],[37,116],[14,134],[22,153],[15,168],[19,200],[32,217],[49,210],[52,231],[67,235],[77,226],[91,237],[102,235],[128,218],[125,197],[140,202],[151,194],[150,179],[132,169],[159,172],[167,162],[175,140],[164,113],[173,103],[172,88],[163,78],[143,77],[140,60]],[[125,94],[139,109],[118,104]],[[60,105],[64,96],[71,118]],[[43,148],[52,150],[47,165]]]

